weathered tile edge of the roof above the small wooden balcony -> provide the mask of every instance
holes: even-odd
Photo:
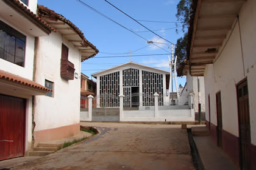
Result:
[[[71,21],[69,21],[68,19],[66,19],[63,15],[60,15],[59,13],[55,13],[54,10],[50,10],[47,7],[44,7],[43,5],[37,5],[37,10],[38,10],[38,16],[40,18],[42,18],[44,15],[46,16],[50,16],[51,18],[55,18],[55,19],[59,19],[62,22],[65,22],[66,24],[68,24],[71,28],[74,29],[74,31],[80,36],[80,38],[84,41],[82,43],[82,45],[84,46],[90,46],[92,49],[95,50],[96,53],[94,53],[93,55],[89,56],[88,58],[91,58],[93,56],[95,56],[99,50],[93,46],[93,44],[91,44],[91,42],[89,42],[85,36],[84,33],[82,33],[82,31],[76,26],[74,25]]]

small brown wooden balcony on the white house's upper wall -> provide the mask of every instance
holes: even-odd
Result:
[[[60,77],[65,80],[74,80],[74,64],[68,60],[62,60],[60,64]]]

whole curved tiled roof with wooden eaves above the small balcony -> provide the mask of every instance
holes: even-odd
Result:
[[[73,43],[74,46],[80,50],[82,53],[82,61],[95,56],[99,52],[99,50],[85,38],[84,33],[64,16],[43,5],[38,5],[37,10],[38,16],[41,19],[48,22],[49,25],[54,27],[54,29],[65,36],[69,42]]]

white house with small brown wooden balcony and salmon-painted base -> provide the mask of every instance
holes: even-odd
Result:
[[[42,5],[37,10],[55,32],[35,40],[35,81],[52,90],[35,97],[35,144],[79,133],[81,61],[98,53],[71,21]]]

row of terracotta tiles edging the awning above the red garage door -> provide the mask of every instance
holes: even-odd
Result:
[[[32,87],[35,89],[44,90],[46,92],[52,91],[51,89],[48,89],[44,86],[41,86],[38,83],[35,83],[35,81],[31,81],[27,78],[20,77],[18,75],[14,75],[13,73],[5,72],[3,70],[0,70],[0,79],[1,80],[7,80],[13,83],[22,84],[27,87]]]

